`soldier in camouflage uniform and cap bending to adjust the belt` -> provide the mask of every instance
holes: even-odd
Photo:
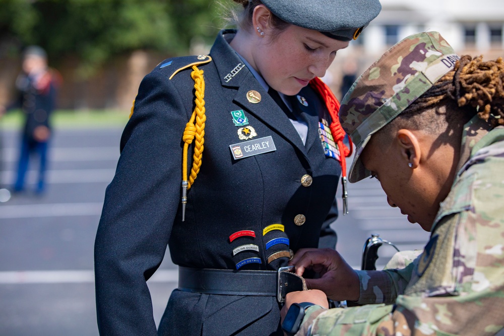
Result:
[[[311,291],[297,334],[504,332],[504,62],[461,58],[437,32],[409,36],[354,83],[340,110],[356,144],[350,182],[377,178],[392,207],[431,232],[401,269],[355,271],[336,251],[300,250]],[[333,300],[360,306],[326,309]],[[502,330],[502,331],[501,331]],[[501,332],[499,332],[501,331]]]

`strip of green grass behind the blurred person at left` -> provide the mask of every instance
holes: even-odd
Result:
[[[129,116],[130,111],[56,110],[51,115],[51,124],[55,128],[124,127]],[[3,129],[18,128],[22,123],[21,111],[13,111],[0,118],[0,127]]]

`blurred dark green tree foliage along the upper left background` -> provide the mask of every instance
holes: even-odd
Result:
[[[223,24],[214,0],[0,0],[0,8],[0,43],[41,45],[55,62],[75,56],[84,77],[132,50],[186,53],[193,37],[210,43]]]

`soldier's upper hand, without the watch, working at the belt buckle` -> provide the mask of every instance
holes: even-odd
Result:
[[[296,266],[296,274],[299,276],[306,269],[320,274],[319,279],[305,279],[308,289],[320,289],[335,301],[359,299],[359,277],[336,250],[300,249],[289,264]]]

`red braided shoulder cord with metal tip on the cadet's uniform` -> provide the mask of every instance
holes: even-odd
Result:
[[[331,133],[333,135],[334,141],[338,145],[338,149],[340,151],[340,163],[341,163],[341,184],[342,184],[342,196],[343,196],[343,215],[348,214],[348,192],[346,188],[346,157],[352,155],[352,141],[348,138],[349,148],[343,144],[343,139],[345,138],[345,130],[341,127],[340,119],[338,116],[338,112],[340,110],[340,102],[334,96],[331,89],[322,82],[322,80],[318,77],[312,79],[310,81],[310,87],[317,91],[321,98],[325,101],[327,109],[329,110],[329,114],[331,115],[331,124],[329,128],[331,129]]]

